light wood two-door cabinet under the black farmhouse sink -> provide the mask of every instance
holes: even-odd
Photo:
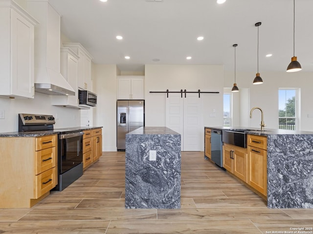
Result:
[[[224,143],[223,167],[247,182],[247,149]]]

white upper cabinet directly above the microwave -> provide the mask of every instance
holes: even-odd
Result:
[[[63,43],[65,47],[71,48],[78,55],[78,79],[79,89],[92,91],[91,82],[91,60],[92,56],[80,43]]]

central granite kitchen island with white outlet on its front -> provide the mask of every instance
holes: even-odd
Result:
[[[180,134],[166,127],[126,134],[126,208],[180,208],[180,150]]]

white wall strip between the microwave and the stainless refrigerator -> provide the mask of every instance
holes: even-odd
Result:
[[[93,108],[93,126],[102,126],[102,151],[116,151],[116,65],[92,66],[93,91],[97,107]]]

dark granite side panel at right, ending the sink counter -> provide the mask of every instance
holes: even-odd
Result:
[[[268,136],[268,208],[313,208],[313,135]]]

